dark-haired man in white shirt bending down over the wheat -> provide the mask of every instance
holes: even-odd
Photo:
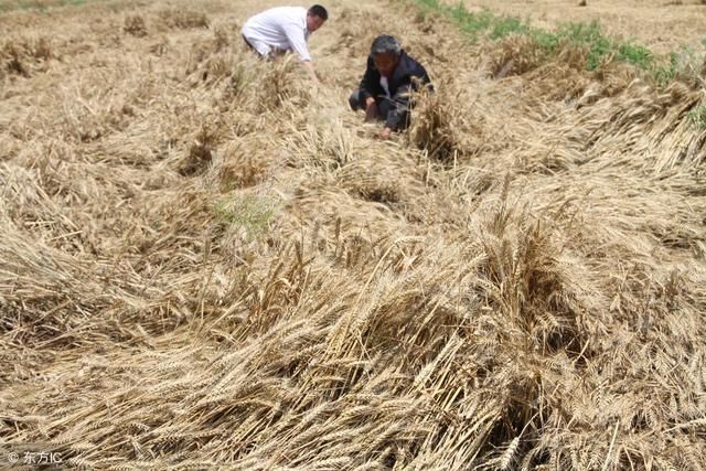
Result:
[[[296,52],[313,81],[319,82],[307,41],[328,19],[327,9],[320,4],[309,10],[302,7],[277,7],[249,18],[240,33],[247,45],[264,57],[286,51]]]

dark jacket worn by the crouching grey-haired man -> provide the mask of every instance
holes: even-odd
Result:
[[[387,78],[391,99],[396,105],[387,114],[387,122],[385,125],[392,129],[400,129],[406,125],[403,121],[409,111],[409,93],[418,89],[417,81],[413,81],[413,77],[416,77],[421,84],[429,84],[431,88],[427,71],[403,50],[395,72]],[[375,68],[373,55],[368,55],[365,75],[363,75],[360,85],[362,101],[365,101],[371,96],[376,101],[386,97],[385,89],[379,84],[379,72]]]

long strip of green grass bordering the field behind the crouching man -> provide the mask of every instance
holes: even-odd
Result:
[[[648,72],[659,86],[667,85],[683,71],[675,57],[671,57],[665,64],[643,45],[607,36],[598,21],[568,22],[555,31],[547,31],[531,25],[527,20],[495,14],[488,9],[471,12],[462,3],[451,7],[439,0],[408,1],[417,4],[425,14],[435,13],[450,19],[472,42],[479,39],[496,41],[509,34],[525,34],[549,55],[561,44],[576,44],[588,51],[587,69],[598,71],[603,63],[619,61]],[[706,45],[706,40],[704,43]]]

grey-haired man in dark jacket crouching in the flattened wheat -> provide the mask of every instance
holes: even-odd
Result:
[[[424,85],[431,88],[421,64],[407,55],[396,38],[382,35],[373,41],[360,88],[351,94],[349,103],[353,110],[365,110],[366,121],[384,119],[379,136],[386,139],[409,125],[409,95]]]

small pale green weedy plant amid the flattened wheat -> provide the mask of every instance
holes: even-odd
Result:
[[[250,240],[260,239],[280,211],[280,202],[271,195],[246,194],[220,200],[214,212],[226,228],[245,231]]]

